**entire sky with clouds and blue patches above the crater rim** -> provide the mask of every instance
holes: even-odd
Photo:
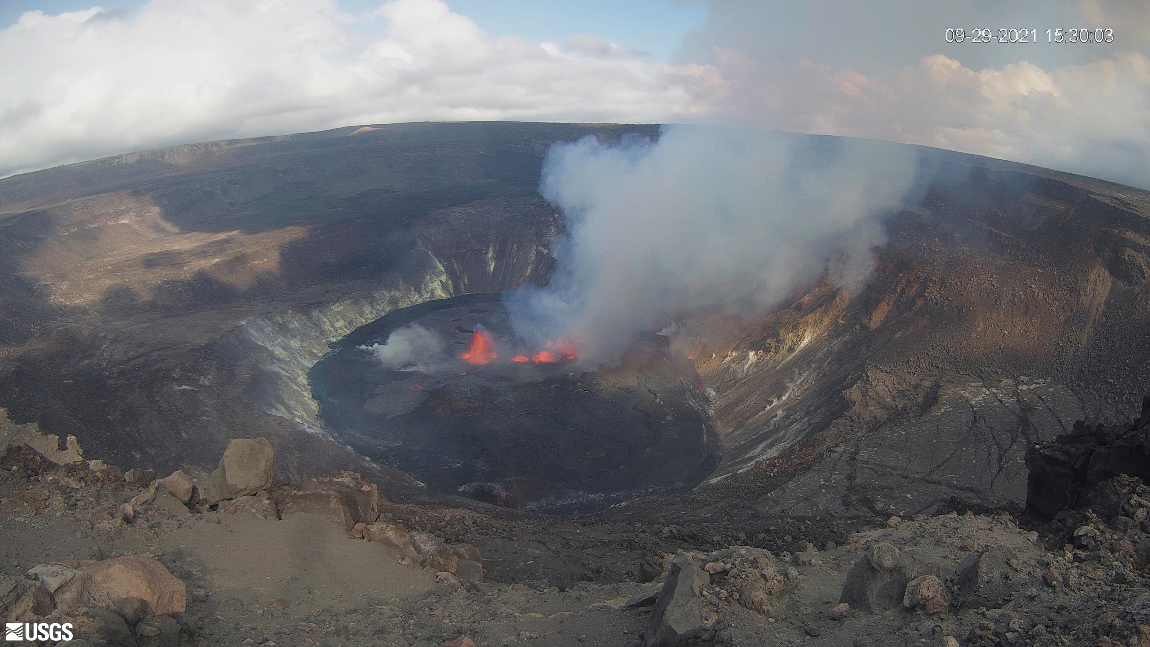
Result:
[[[948,43],[954,28],[994,39]],[[998,43],[1007,28],[1037,41]],[[1070,43],[1074,28],[1109,41]],[[527,120],[868,137],[1150,188],[1148,47],[1143,0],[7,0],[0,176],[229,137]]]

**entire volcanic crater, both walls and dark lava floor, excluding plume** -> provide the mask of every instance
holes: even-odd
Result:
[[[616,372],[500,356],[389,373],[359,349],[389,327],[423,320],[459,366],[478,326],[511,338],[492,295],[545,284],[565,229],[537,190],[552,144],[659,130],[356,128],[0,180],[0,408],[161,472],[262,435],[279,478],[359,470],[393,500],[565,511],[691,488],[600,515],[710,532],[716,502],[741,502],[765,531],[1020,504],[1027,447],[1150,381],[1150,195],[931,149],[912,150],[919,190],[889,205],[857,289],[823,276],[766,313],[684,313],[703,394],[653,335]]]

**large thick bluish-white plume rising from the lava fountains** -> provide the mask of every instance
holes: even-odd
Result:
[[[568,233],[550,284],[508,297],[512,326],[577,338],[581,361],[604,366],[677,315],[775,305],[831,260],[858,280],[914,166],[881,142],[683,125],[555,144],[539,192]]]

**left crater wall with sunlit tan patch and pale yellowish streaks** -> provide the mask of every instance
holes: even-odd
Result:
[[[307,370],[397,307],[544,281],[562,227],[535,192],[545,145],[618,130],[415,124],[2,181],[0,406],[125,464],[260,431],[289,473],[347,466],[308,433]]]

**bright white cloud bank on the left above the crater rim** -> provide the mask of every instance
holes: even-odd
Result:
[[[698,66],[576,38],[494,38],[439,0],[152,0],[0,32],[0,175],[129,150],[369,122],[650,122],[698,112]],[[703,93],[705,96],[705,93]]]

